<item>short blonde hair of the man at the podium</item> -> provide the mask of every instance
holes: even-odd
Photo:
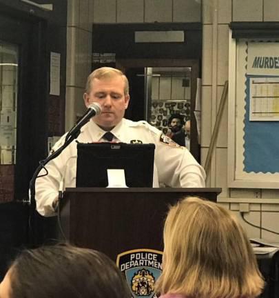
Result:
[[[118,70],[116,68],[110,68],[110,67],[97,68],[96,70],[91,72],[91,74],[87,77],[85,92],[87,94],[90,93],[93,79],[110,79],[116,76],[120,76],[123,78],[123,81],[125,83],[124,94],[129,95],[129,81],[125,76],[125,74],[123,74],[121,70]]]

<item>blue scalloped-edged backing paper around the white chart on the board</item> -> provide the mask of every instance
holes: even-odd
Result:
[[[279,172],[279,121],[250,121],[250,79],[245,74],[244,172]],[[267,76],[265,76],[267,77]]]

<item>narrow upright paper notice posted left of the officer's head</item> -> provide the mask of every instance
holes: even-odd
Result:
[[[50,95],[60,95],[61,54],[50,52]]]

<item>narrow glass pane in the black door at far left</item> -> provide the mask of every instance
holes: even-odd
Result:
[[[17,141],[18,47],[0,41],[0,159],[14,164]]]

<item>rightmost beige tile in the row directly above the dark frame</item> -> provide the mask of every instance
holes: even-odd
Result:
[[[174,0],[174,22],[200,22],[201,6],[195,0]]]

